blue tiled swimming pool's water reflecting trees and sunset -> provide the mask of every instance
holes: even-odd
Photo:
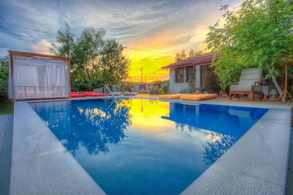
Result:
[[[30,106],[107,194],[180,194],[268,111],[122,98]]]

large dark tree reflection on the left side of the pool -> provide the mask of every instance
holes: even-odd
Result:
[[[107,111],[101,105],[72,108],[71,136],[64,145],[74,155],[79,144],[89,154],[107,152],[108,144],[115,144],[125,137],[124,130],[131,125],[129,100],[117,100]]]

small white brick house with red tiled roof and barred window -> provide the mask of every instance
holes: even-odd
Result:
[[[203,86],[208,91],[219,78],[213,73],[215,68],[209,67],[215,55],[217,53],[205,53],[161,67],[162,70],[170,69],[170,94],[178,94],[182,88],[187,87],[187,78],[191,75],[194,75],[196,87]]]

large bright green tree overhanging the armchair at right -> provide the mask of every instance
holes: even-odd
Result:
[[[280,75],[281,61],[292,61],[293,54],[293,1],[244,1],[239,10],[224,10],[225,23],[217,22],[207,34],[207,49],[218,52],[215,73],[222,88],[238,81],[242,68],[258,67],[272,77],[280,94],[283,94],[276,77]],[[284,54],[289,56],[283,57]],[[283,100],[285,101],[285,100]]]

